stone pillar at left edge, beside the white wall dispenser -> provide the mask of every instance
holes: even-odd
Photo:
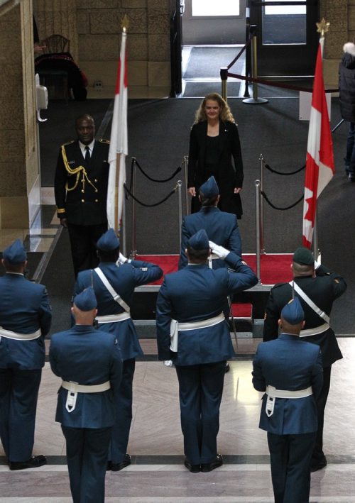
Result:
[[[0,16],[0,45],[0,228],[26,228],[40,203],[31,0]]]

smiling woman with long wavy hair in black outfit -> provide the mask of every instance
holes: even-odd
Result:
[[[199,187],[212,175],[219,187],[219,209],[240,219],[244,175],[239,133],[229,106],[218,93],[204,97],[191,128],[187,188],[192,213],[200,209]]]

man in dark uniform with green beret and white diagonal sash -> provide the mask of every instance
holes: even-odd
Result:
[[[312,455],[311,470],[316,471],[327,465],[323,452],[324,408],[330,386],[332,363],[342,358],[334,331],[329,326],[329,316],[335,299],[346,290],[346,282],[336,272],[315,262],[307,248],[297,248],[293,255],[293,282],[275,284],[266,304],[263,340],[278,337],[278,319],[287,302],[300,298],[305,311],[305,329],[300,332],[303,340],[317,344],[322,350],[323,386],[317,398],[318,431],[315,450]]]

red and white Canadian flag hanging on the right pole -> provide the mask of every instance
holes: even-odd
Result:
[[[315,82],[313,84],[310,128],[307,141],[302,232],[302,243],[306,248],[310,248],[312,245],[317,197],[334,176],[332,133],[330,131],[322,70],[323,40],[324,38],[320,39],[315,65]]]

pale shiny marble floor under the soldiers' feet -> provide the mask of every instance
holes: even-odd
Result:
[[[254,341],[255,343],[256,341]],[[324,426],[328,465],[312,474],[310,502],[355,502],[355,338],[339,338],[344,359],[333,366]],[[152,353],[153,341],[145,349]],[[132,465],[108,472],[107,502],[273,502],[266,433],[258,429],[261,394],[251,385],[251,358],[231,361],[222,399],[219,452],[224,465],[193,474],[182,465],[182,433],[175,370],[157,361],[138,361],[129,441]],[[71,501],[65,442],[54,421],[60,380],[45,363],[38,399],[34,454],[48,465],[11,472],[0,448],[2,503]]]

